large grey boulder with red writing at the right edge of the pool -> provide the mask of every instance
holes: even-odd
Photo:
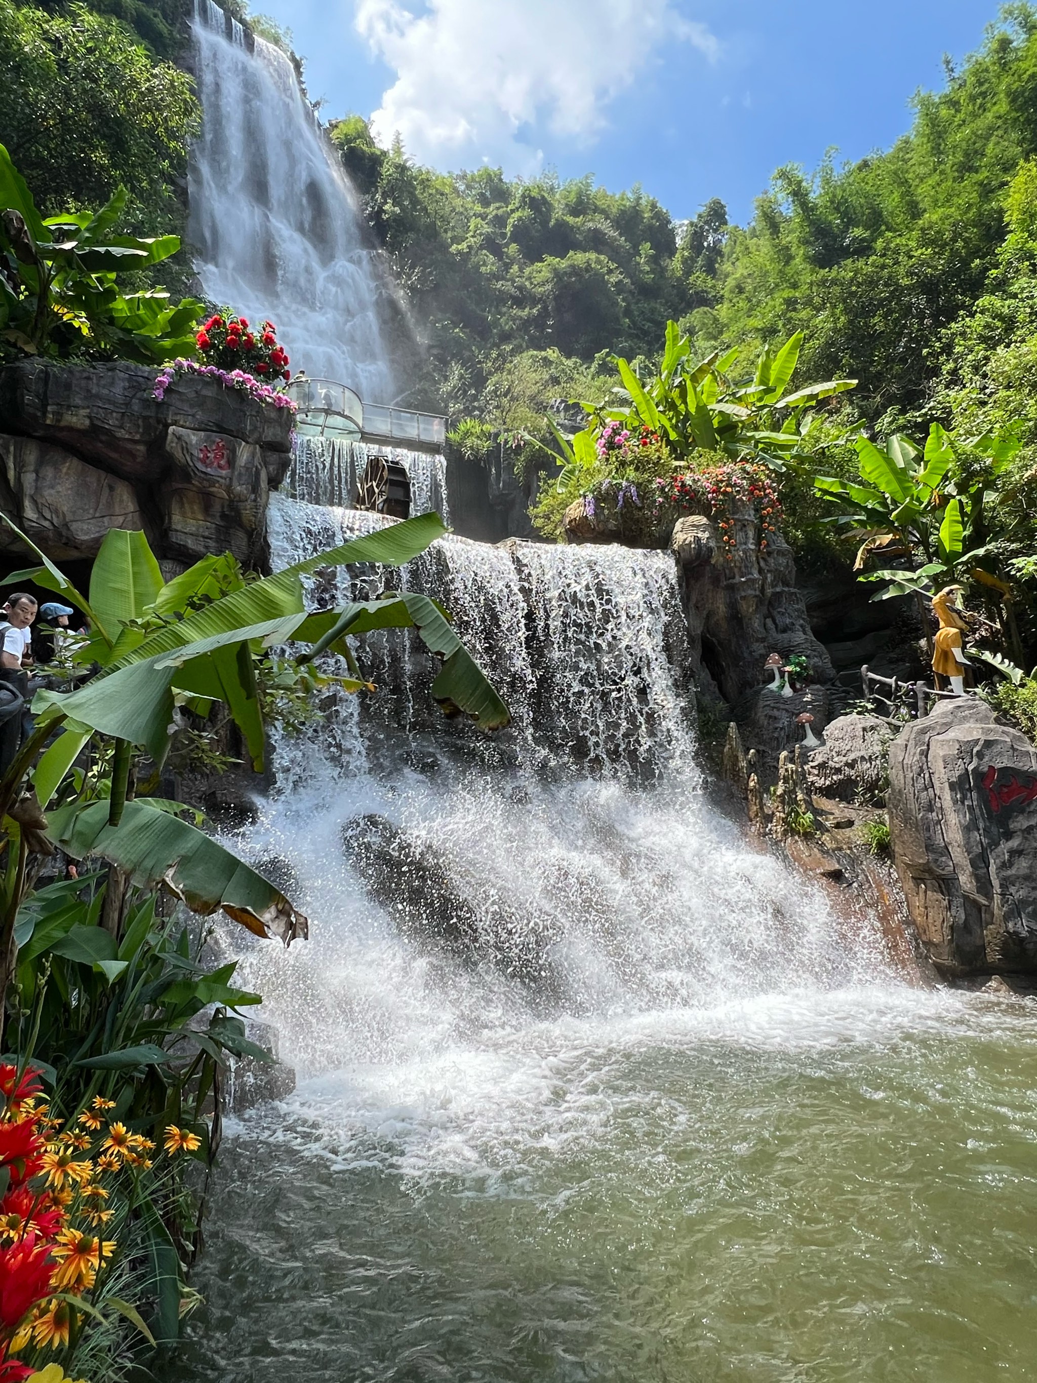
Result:
[[[889,752],[893,859],[949,975],[1037,972],[1037,748],[972,697],[939,703]]]

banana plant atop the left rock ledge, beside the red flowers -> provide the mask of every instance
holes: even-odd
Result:
[[[162,364],[195,351],[205,304],[163,289],[122,293],[116,277],[160,264],[180,236],[120,235],[127,191],[100,212],[41,217],[0,144],[0,342],[28,355],[108,355]]]

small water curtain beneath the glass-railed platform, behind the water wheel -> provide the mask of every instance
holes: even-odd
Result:
[[[357,496],[357,484],[372,452],[398,462],[411,477],[412,514],[434,510],[449,523],[447,458],[441,452],[299,436],[292,448],[292,466],[281,485],[282,494],[311,505],[348,509]]]

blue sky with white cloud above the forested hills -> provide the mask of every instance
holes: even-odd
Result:
[[[324,116],[375,118],[444,170],[593,173],[675,217],[744,221],[781,163],[890,144],[996,0],[254,0],[288,25]]]

